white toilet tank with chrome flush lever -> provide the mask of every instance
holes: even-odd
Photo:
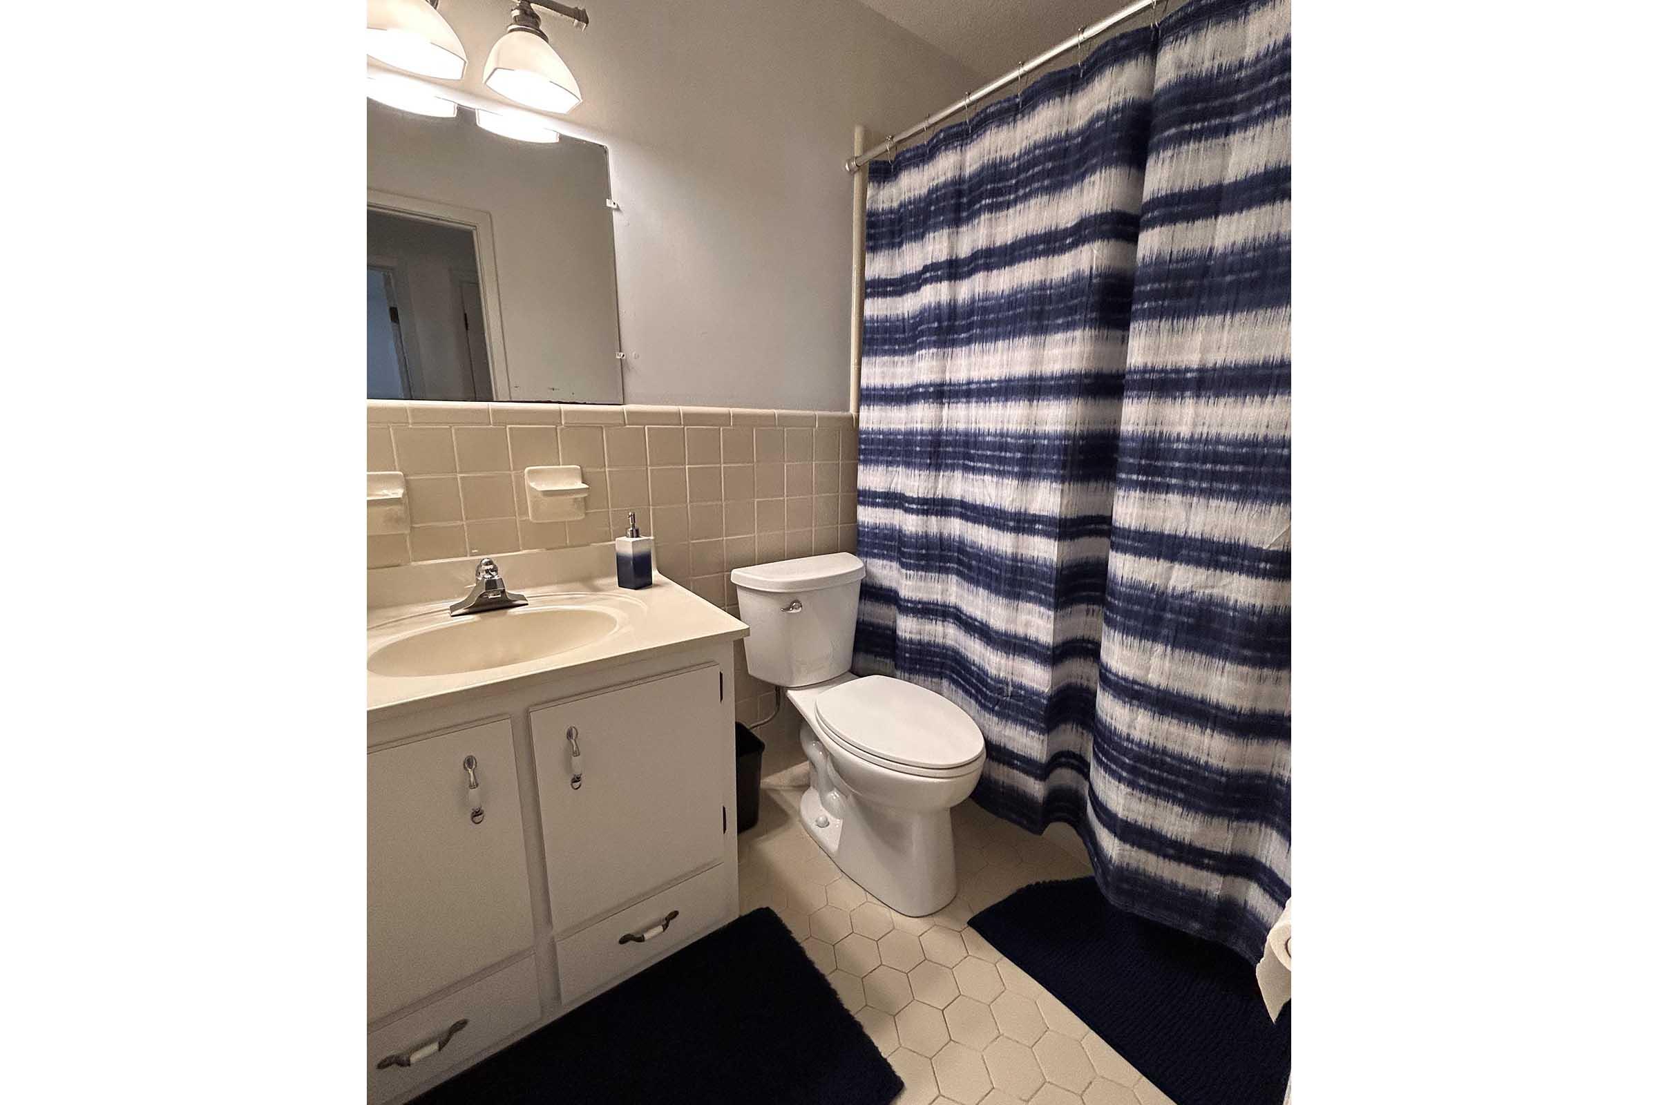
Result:
[[[749,630],[748,674],[804,688],[851,671],[862,578],[864,562],[852,553],[734,570],[738,611]]]

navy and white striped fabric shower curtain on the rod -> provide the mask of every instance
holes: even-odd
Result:
[[[1159,30],[870,164],[854,669],[975,797],[1255,959],[1288,898],[1288,5]]]

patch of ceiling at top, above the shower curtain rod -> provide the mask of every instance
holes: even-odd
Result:
[[[859,0],[985,80],[1129,0]]]

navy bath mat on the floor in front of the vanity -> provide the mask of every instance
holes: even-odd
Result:
[[[778,914],[754,910],[418,1105],[887,1105],[902,1088]]]

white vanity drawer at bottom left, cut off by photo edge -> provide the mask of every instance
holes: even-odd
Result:
[[[541,992],[536,984],[536,956],[524,956],[466,989],[371,1032],[368,1037],[368,1100],[388,1102],[424,1085],[539,1017]],[[441,1049],[436,1047],[444,1032],[463,1019],[466,1025],[454,1032]],[[408,1057],[410,1065],[380,1065],[398,1055]]]

